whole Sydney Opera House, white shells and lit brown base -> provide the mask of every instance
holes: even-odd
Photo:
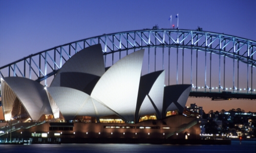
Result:
[[[2,108],[5,120],[12,120],[12,137],[199,138],[197,119],[182,115],[191,85],[165,86],[164,70],[141,76],[143,57],[144,49],[137,50],[105,67],[97,44],[63,64],[50,86],[2,78]]]

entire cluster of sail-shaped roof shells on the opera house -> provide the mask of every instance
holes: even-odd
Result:
[[[196,125],[194,118],[181,115],[191,85],[165,86],[164,70],[141,76],[143,57],[144,49],[137,50],[105,68],[101,45],[96,44],[80,50],[63,64],[49,87],[26,78],[3,78],[5,120],[27,117],[32,121],[68,123],[78,117],[90,117],[92,129],[99,123],[133,128],[131,123],[146,125],[155,120],[153,124],[157,125],[177,120],[168,119],[176,115],[184,121],[179,121],[179,126],[186,124],[185,129],[189,129]],[[46,116],[52,116],[51,121]]]

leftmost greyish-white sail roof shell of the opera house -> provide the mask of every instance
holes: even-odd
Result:
[[[22,103],[26,111],[32,120],[38,120],[42,114],[52,114],[51,106],[47,97],[47,94],[44,90],[44,86],[35,82],[33,80],[21,77],[8,77],[4,78],[3,84],[7,84],[15,96]],[[11,92],[6,91],[5,88],[3,91],[3,106],[7,106],[10,103],[9,100],[13,97],[8,94]],[[5,108],[4,108],[5,109]]]

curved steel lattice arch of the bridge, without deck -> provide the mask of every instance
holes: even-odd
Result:
[[[155,48],[155,53],[156,48],[177,48],[177,54],[178,48],[186,48],[228,57],[233,61],[241,61],[247,66],[250,65],[251,69],[256,67],[256,58],[253,56],[256,53],[256,41],[200,30],[144,29],[103,34],[59,45],[0,67],[0,75],[3,78],[26,77],[38,82],[45,80],[46,85],[47,78],[54,75],[63,63],[76,54],[78,50],[98,43],[101,43],[105,57],[109,54],[112,54],[113,57],[116,52],[121,53],[124,50],[137,48]],[[126,51],[127,54],[128,51]],[[221,87],[219,86],[219,88]]]

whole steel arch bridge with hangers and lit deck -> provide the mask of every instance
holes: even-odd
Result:
[[[190,97],[256,99],[256,41],[200,28],[154,27],[78,40],[2,66],[0,78],[24,77],[48,86],[69,58],[98,43],[105,67],[145,48],[142,75],[165,70],[165,85],[193,85]]]

